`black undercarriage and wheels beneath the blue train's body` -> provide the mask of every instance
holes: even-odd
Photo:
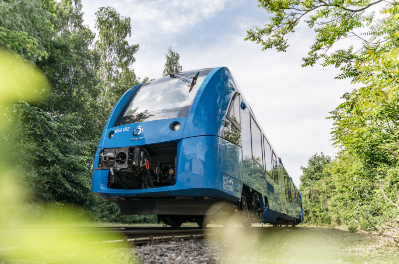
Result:
[[[295,226],[299,219],[284,216],[275,221],[263,221],[261,218],[268,209],[267,203],[261,204],[262,195],[244,185],[242,197],[236,202],[204,197],[151,197],[145,199],[119,198],[116,202],[122,214],[157,214],[158,223],[163,222],[172,227],[183,223],[197,223],[206,227],[209,223],[234,226],[241,224],[251,227],[253,223],[269,223],[273,226]],[[291,218],[291,219],[290,219]]]

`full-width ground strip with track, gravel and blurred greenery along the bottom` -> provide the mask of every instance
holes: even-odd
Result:
[[[399,263],[397,245],[330,227],[24,228],[2,238],[1,264]]]

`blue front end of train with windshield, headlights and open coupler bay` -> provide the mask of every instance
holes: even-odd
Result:
[[[93,192],[122,214],[158,214],[169,222],[172,215],[198,222],[237,202],[242,183],[222,176],[220,151],[234,92],[229,70],[220,67],[128,90],[101,136]]]

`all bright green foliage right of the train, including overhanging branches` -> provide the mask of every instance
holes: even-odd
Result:
[[[264,28],[249,30],[245,40],[262,45],[263,50],[285,52],[289,47],[287,36],[303,21],[316,36],[302,66],[313,66],[321,59],[323,66],[341,70],[337,79],[350,78],[353,84],[363,85],[345,93],[345,102],[328,117],[334,121],[333,144],[340,150],[326,167],[331,173],[325,178],[329,182],[321,178],[311,183],[313,189],[331,186],[322,189],[325,199],[316,202],[319,212],[328,209],[332,221],[343,220],[362,230],[386,219],[399,223],[399,205],[392,202],[399,195],[399,6],[395,1],[381,0],[259,3],[273,17]],[[359,40],[361,47],[348,45],[333,50],[348,38]],[[306,189],[308,183],[304,183]]]

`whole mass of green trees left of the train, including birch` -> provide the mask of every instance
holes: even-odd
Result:
[[[126,40],[130,18],[111,7],[96,18],[97,39],[83,24],[80,0],[0,0],[0,52],[7,55],[0,63],[7,88],[0,89],[0,146],[10,153],[0,165],[18,170],[37,201],[80,204],[109,221],[146,220],[122,217],[91,193],[106,117],[139,83],[131,69],[139,46]]]

